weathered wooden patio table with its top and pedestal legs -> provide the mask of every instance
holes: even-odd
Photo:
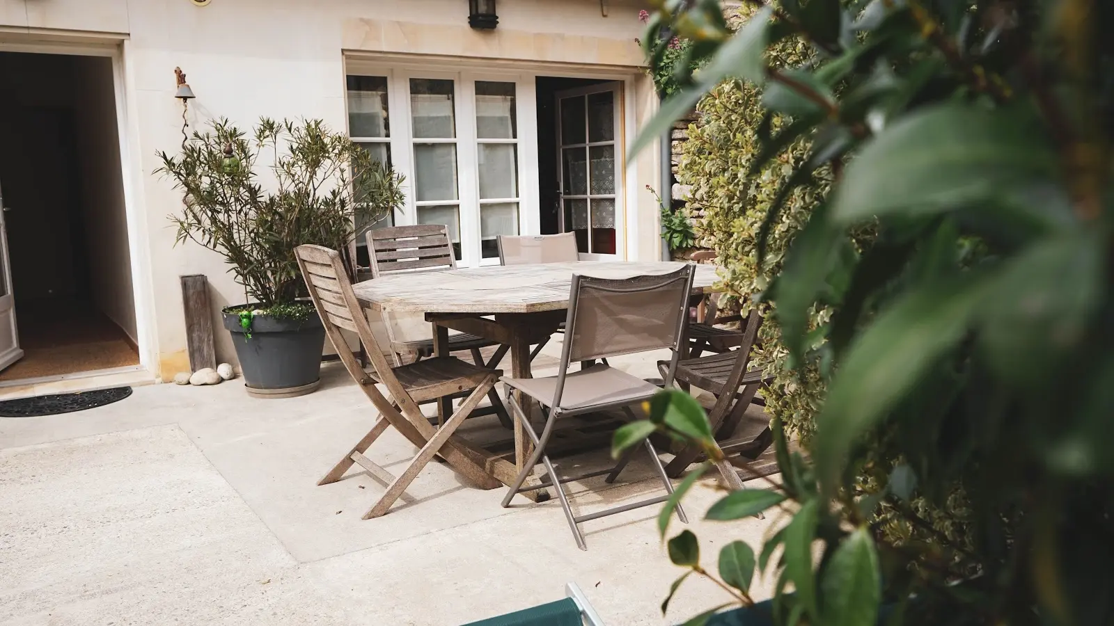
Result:
[[[573,274],[626,278],[639,274],[666,274],[682,266],[675,262],[582,261],[527,265],[488,265],[436,272],[398,273],[353,285],[365,306],[387,312],[424,313],[433,323],[437,355],[448,355],[449,329],[479,335],[510,346],[514,378],[530,378],[530,345],[549,338],[565,321]],[[715,266],[697,265],[693,294],[713,291]],[[682,349],[687,346],[682,342]],[[685,351],[686,352],[686,351]],[[684,358],[684,354],[682,354]],[[526,399],[518,397],[519,402]],[[529,414],[530,407],[522,404]],[[439,412],[448,414],[444,404]],[[452,441],[504,485],[510,485],[530,457],[532,443],[515,421],[515,463],[453,436]],[[524,487],[537,485],[530,479]],[[544,488],[524,496],[548,499]]]

